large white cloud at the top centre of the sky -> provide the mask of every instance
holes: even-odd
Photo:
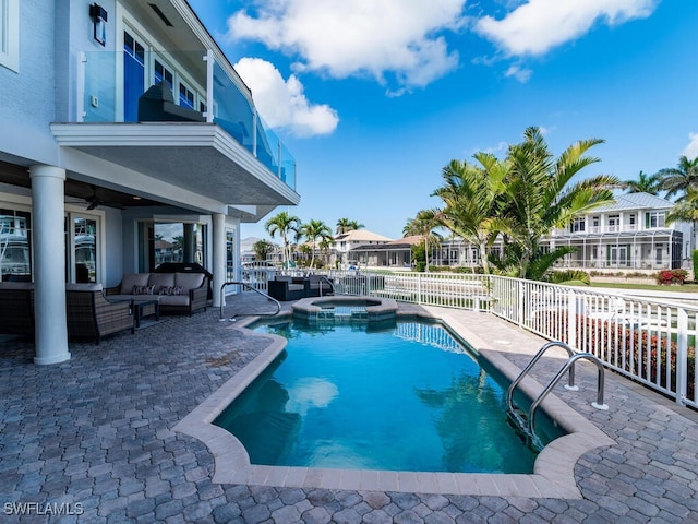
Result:
[[[300,56],[296,71],[424,86],[458,66],[438,33],[464,24],[465,0],[274,0],[239,11],[228,36]]]

